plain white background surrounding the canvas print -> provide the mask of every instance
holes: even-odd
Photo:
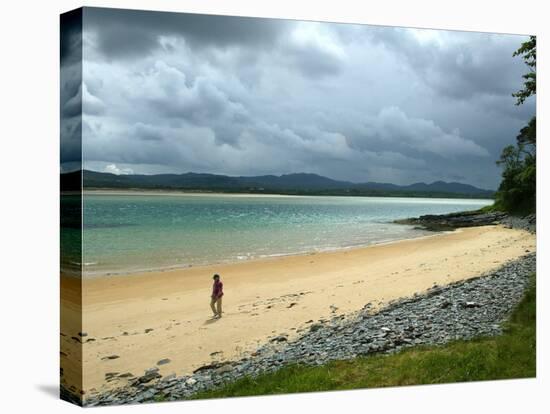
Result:
[[[58,400],[59,14],[109,6],[538,35],[537,379],[115,407],[114,413],[548,410],[548,20],[544,1],[5,1],[0,56],[0,402],[3,412],[75,412]],[[545,23],[547,24],[544,27]],[[498,74],[495,74],[498,76]],[[546,99],[542,99],[546,97]],[[4,411],[5,410],[5,411]],[[546,411],[548,412],[548,411]]]

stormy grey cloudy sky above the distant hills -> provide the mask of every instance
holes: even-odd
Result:
[[[101,8],[82,26],[82,61],[62,50],[62,135],[82,132],[96,171],[496,189],[535,112],[511,96],[526,36]]]

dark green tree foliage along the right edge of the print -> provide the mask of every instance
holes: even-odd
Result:
[[[525,99],[537,93],[536,67],[537,43],[536,37],[522,43],[514,52],[514,56],[522,56],[530,72],[523,75],[524,87],[512,94],[517,98],[516,105],[521,105]],[[533,116],[529,123],[520,130],[516,138],[516,146],[509,145],[503,149],[497,165],[502,171],[502,182],[495,194],[495,206],[511,213],[532,213],[536,208],[537,187],[537,119]]]

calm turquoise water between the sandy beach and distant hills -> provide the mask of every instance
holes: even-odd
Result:
[[[84,196],[86,275],[233,262],[369,245],[426,233],[399,218],[490,200],[229,195]]]

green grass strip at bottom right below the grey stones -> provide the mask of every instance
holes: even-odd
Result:
[[[536,376],[535,277],[500,336],[415,347],[323,366],[292,365],[244,378],[194,399],[350,390],[413,384],[484,381]]]

